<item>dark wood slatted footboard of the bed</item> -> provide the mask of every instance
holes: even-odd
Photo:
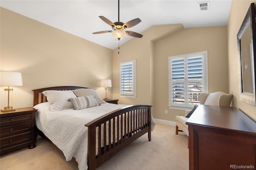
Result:
[[[95,170],[143,134],[148,133],[150,141],[151,107],[150,105],[132,105],[87,123],[85,126],[88,127],[88,169]],[[103,143],[101,136],[104,136]],[[117,139],[117,142],[111,139]]]

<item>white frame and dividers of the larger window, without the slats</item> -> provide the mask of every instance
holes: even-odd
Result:
[[[170,109],[180,109],[180,110],[187,110],[187,109],[192,109],[194,107],[194,104],[190,104],[188,102],[188,83],[193,82],[188,81],[188,59],[191,58],[196,58],[198,55],[202,56],[202,93],[208,93],[208,51],[202,51],[202,52],[197,52],[197,53],[189,53],[189,54],[183,54],[183,55],[176,55],[176,56],[170,56],[168,57],[168,86],[169,86],[169,108]],[[186,61],[184,62],[184,88],[186,89],[184,91],[185,93],[185,102],[183,104],[181,103],[173,103],[172,102],[172,61],[173,60],[178,60],[178,59],[185,59]],[[175,82],[175,81],[174,81]]]

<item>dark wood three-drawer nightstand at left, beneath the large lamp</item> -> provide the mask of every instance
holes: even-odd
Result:
[[[28,146],[36,147],[34,137],[35,114],[32,107],[0,113],[0,154]]]

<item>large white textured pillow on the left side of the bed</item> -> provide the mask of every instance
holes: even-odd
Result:
[[[50,102],[50,111],[60,111],[64,109],[72,109],[74,105],[68,99],[76,97],[72,90],[58,91],[46,90],[42,92]]]

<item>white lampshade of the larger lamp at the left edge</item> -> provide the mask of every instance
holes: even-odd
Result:
[[[0,86],[22,86],[21,73],[1,71]]]

